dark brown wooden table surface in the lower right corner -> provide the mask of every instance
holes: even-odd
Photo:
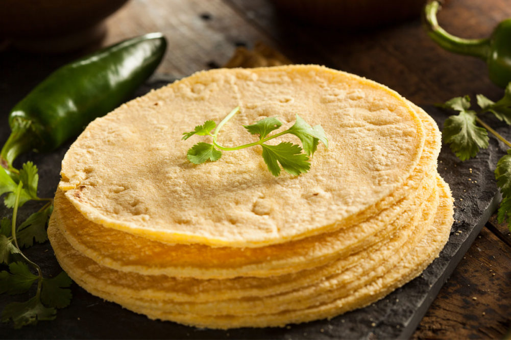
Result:
[[[412,338],[503,338],[511,306],[511,248],[483,228]]]

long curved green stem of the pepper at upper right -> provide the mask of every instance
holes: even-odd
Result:
[[[486,60],[490,53],[490,39],[463,39],[447,33],[438,25],[436,13],[440,8],[437,1],[431,1],[424,8],[428,35],[447,51],[478,57]]]

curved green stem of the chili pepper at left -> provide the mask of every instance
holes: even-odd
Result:
[[[0,163],[8,171],[19,173],[12,163],[20,154],[34,148],[34,131],[28,120],[18,119],[14,122],[11,135],[0,151]]]

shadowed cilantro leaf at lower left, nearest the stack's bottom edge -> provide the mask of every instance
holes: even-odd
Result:
[[[71,289],[65,289],[73,283],[73,280],[65,272],[52,279],[42,279],[41,301],[50,307],[64,308],[71,303]]]

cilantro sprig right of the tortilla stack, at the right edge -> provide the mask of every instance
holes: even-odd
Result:
[[[475,157],[480,149],[488,147],[488,132],[510,148],[507,150],[507,155],[497,162],[495,179],[502,193],[497,220],[499,223],[507,222],[511,230],[511,143],[479,117],[482,113],[492,113],[497,119],[511,125],[511,83],[507,84],[503,98],[497,102],[491,101],[482,94],[477,94],[476,99],[480,107],[479,111],[471,109],[468,95],[453,98],[441,105],[458,111],[457,115],[446,119],[442,131],[443,139],[462,161]]]

